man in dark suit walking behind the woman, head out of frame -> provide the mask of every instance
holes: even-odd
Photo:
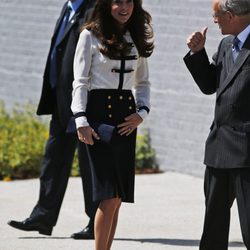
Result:
[[[52,114],[49,139],[41,166],[40,195],[31,215],[24,221],[9,221],[14,228],[51,235],[56,225],[74,152],[78,144],[80,173],[83,182],[85,211],[90,221],[86,228],[71,237],[94,238],[94,216],[97,205],[92,202],[91,177],[85,148],[78,142],[70,109],[73,82],[73,59],[80,27],[86,21],[94,0],[70,0],[56,23],[44,72],[37,114]]]

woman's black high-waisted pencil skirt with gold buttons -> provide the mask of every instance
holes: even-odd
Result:
[[[130,90],[91,90],[86,115],[88,121],[117,126],[136,112]],[[86,145],[91,167],[93,201],[120,197],[123,202],[134,202],[136,130],[120,136],[114,130],[109,143],[95,140]]]

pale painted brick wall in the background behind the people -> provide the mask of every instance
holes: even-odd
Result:
[[[152,108],[147,118],[160,168],[202,175],[204,143],[214,96],[203,95],[183,63],[186,38],[208,26],[211,58],[222,38],[210,0],[144,0],[153,17],[155,51],[149,59]],[[0,1],[0,100],[7,108],[37,105],[54,24],[63,1]]]

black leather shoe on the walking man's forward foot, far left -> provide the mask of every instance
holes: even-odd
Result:
[[[15,221],[10,220],[7,222],[8,225],[23,231],[38,231],[40,234],[51,235],[53,227],[45,226],[38,221],[34,221],[31,218],[28,218],[24,221]]]

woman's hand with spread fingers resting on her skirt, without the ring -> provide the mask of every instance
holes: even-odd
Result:
[[[125,117],[125,122],[117,126],[119,128],[118,133],[128,136],[142,123],[142,121],[142,118],[137,113],[133,113]]]

